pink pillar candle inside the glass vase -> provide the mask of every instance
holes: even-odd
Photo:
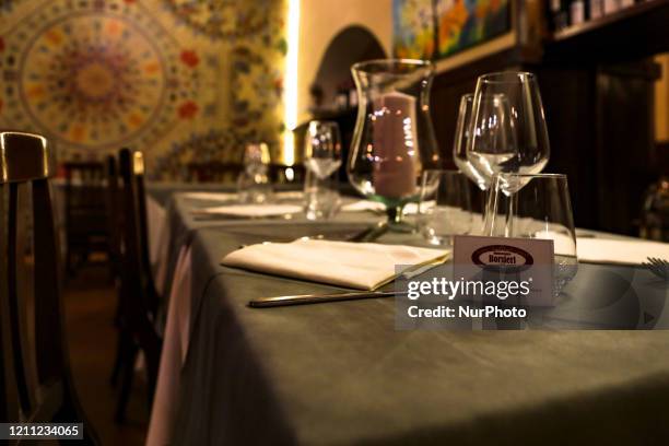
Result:
[[[419,171],[415,98],[392,92],[380,95],[373,104],[374,189],[388,198],[414,195]]]

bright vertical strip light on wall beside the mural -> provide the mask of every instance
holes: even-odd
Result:
[[[283,78],[283,163],[295,164],[295,138],[293,129],[297,126],[297,52],[300,46],[300,2],[287,0],[287,54]]]

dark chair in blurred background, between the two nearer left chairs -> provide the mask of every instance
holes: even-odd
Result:
[[[70,275],[86,263],[92,253],[107,253],[108,215],[105,206],[105,165],[70,162],[66,172],[67,268]]]

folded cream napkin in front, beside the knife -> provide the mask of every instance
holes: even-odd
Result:
[[[446,261],[448,250],[403,245],[298,239],[237,249],[223,259],[239,267],[277,275],[375,290],[396,277],[396,265]]]

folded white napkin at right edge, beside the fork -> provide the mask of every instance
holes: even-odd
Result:
[[[578,260],[597,263],[639,265],[648,257],[669,261],[669,244],[611,238],[577,238]]]

